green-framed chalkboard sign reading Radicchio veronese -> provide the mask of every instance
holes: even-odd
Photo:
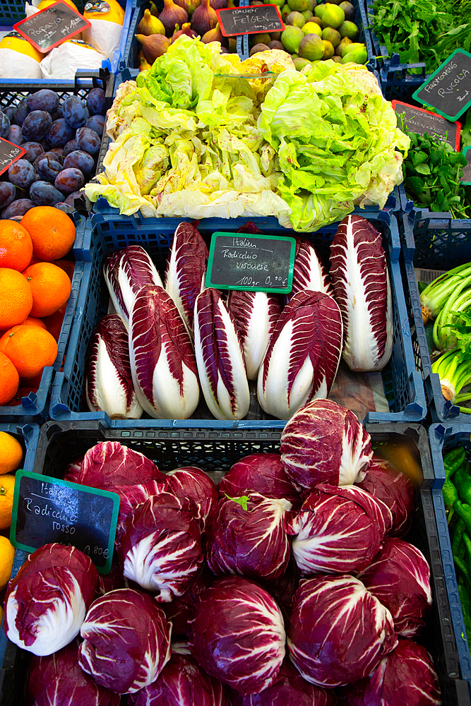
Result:
[[[289,294],[295,249],[294,238],[285,236],[213,233],[205,285]]]

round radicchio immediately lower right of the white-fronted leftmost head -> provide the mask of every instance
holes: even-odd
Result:
[[[78,662],[119,694],[153,683],[170,658],[172,626],[147,594],[119,588],[97,598],[81,628]]]

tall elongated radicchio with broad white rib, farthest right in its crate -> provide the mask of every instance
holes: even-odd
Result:
[[[330,277],[342,311],[343,359],[354,371],[381,370],[393,349],[393,304],[381,233],[362,216],[340,223]]]

